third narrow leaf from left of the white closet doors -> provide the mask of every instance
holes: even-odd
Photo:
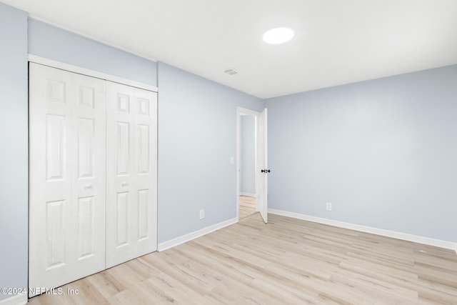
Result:
[[[134,89],[107,82],[106,267],[134,258]]]

